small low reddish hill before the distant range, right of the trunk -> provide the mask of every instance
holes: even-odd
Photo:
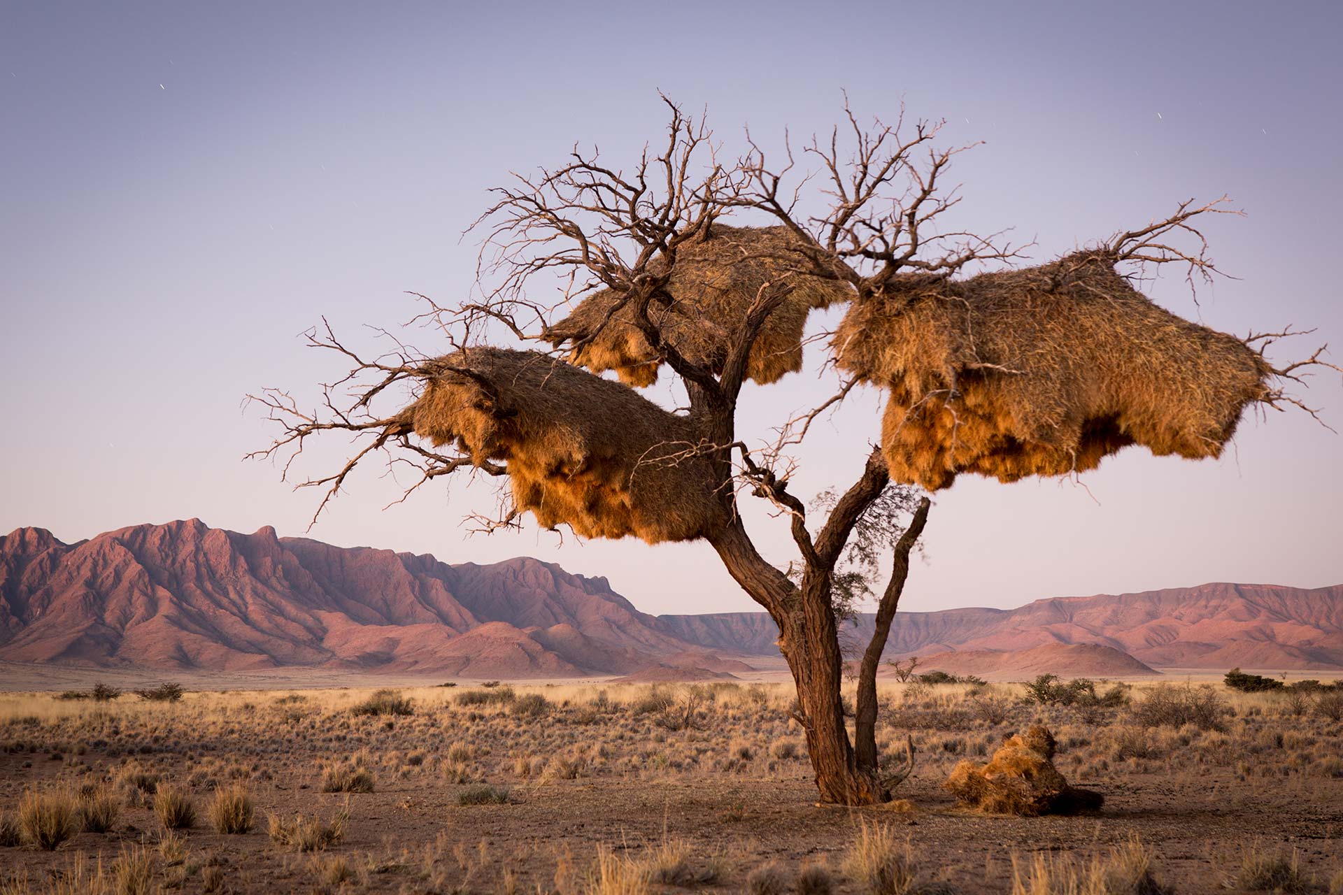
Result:
[[[1044,674],[1069,678],[1140,678],[1160,674],[1113,647],[1099,643],[1049,643],[1033,649],[966,649],[941,652],[919,663],[924,671],[1022,680]]]

